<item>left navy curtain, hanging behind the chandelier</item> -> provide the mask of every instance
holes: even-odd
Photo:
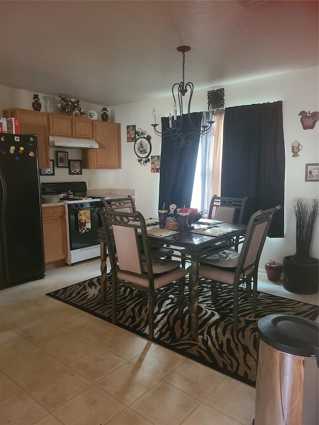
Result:
[[[198,131],[201,125],[201,112],[190,114],[192,123]],[[162,131],[168,129],[168,118],[161,119]],[[188,125],[187,115],[183,115],[182,133],[186,134],[191,129]],[[190,145],[181,148],[175,147],[176,140],[169,136],[162,137],[160,152],[160,197],[159,209],[165,204],[169,210],[170,204],[176,204],[177,208],[184,205],[190,206],[191,194],[194,183],[195,167],[199,145],[199,136],[189,135]]]

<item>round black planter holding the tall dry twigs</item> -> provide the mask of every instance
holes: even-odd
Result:
[[[298,264],[284,257],[284,288],[294,293],[317,293],[319,289],[319,260],[314,264]]]

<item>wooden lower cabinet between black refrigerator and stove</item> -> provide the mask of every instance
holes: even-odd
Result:
[[[67,258],[66,206],[42,207],[45,265]]]

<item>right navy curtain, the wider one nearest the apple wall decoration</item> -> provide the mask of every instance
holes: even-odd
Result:
[[[285,143],[282,101],[225,109],[221,196],[248,196],[244,223],[281,205],[268,236],[284,237]]]

